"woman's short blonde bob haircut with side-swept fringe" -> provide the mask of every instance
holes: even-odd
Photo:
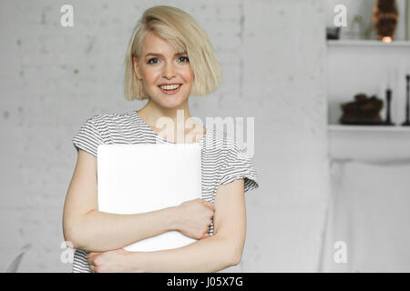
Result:
[[[133,57],[138,59],[141,55],[142,44],[148,32],[166,39],[178,53],[187,53],[193,72],[191,95],[208,95],[220,86],[222,79],[220,63],[205,31],[186,12],[175,7],[158,5],[144,12],[129,40],[125,58],[126,99],[129,101],[149,99],[133,65]]]

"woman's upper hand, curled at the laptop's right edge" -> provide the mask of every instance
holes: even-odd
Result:
[[[178,217],[175,228],[181,234],[195,239],[210,236],[208,234],[210,218],[212,218],[215,212],[210,202],[197,198],[186,201],[176,208]]]

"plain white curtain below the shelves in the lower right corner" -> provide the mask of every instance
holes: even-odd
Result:
[[[333,160],[331,188],[321,271],[410,272],[410,163]]]

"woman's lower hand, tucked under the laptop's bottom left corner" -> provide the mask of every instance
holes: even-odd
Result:
[[[93,273],[132,272],[130,252],[119,248],[103,253],[89,253],[87,261]]]

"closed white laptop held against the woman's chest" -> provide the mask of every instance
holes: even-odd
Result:
[[[200,198],[200,165],[198,144],[98,146],[98,210],[138,214]],[[187,246],[195,241],[179,231],[170,231],[124,249],[149,252]]]

